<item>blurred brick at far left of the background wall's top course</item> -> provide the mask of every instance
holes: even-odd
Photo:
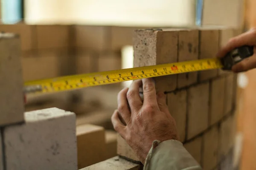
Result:
[[[33,31],[35,31],[35,26],[29,26],[26,24],[15,24],[15,25],[0,25],[0,31],[15,33],[20,35],[21,50],[28,51],[35,49],[35,37],[33,37]]]

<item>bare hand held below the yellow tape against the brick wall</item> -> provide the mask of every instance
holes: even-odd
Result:
[[[139,88],[143,86],[142,101]],[[166,105],[166,95],[156,94],[151,78],[135,80],[118,94],[118,110],[112,115],[114,129],[125,139],[144,164],[154,140],[176,139],[175,120]],[[129,109],[130,106],[130,109]]]

